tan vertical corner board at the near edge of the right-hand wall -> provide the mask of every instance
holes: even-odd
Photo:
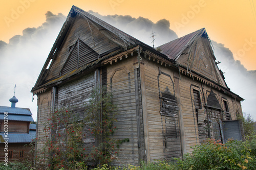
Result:
[[[147,123],[144,63],[139,63],[139,66],[140,66],[141,98],[142,98],[142,112],[143,112],[143,124],[144,124],[145,152],[146,152],[145,155],[146,155],[146,161],[150,162],[150,142],[148,140],[148,123]]]

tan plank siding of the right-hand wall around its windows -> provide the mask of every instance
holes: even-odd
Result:
[[[172,91],[173,86],[169,87],[170,85],[174,84],[172,80],[168,78],[166,75],[170,75],[170,77],[173,79],[173,74],[170,74],[169,72],[172,72],[171,69],[162,67],[160,65],[157,65],[152,63],[153,65],[150,65],[148,61],[145,62],[145,88],[146,88],[146,108],[147,108],[147,120],[148,120],[148,136],[149,136],[149,143],[150,143],[150,159],[162,159],[164,158],[161,153],[164,153],[163,151],[160,150],[160,145],[162,147],[166,146],[165,143],[165,133],[168,132],[167,130],[161,130],[162,127],[166,126],[167,128],[170,128],[170,126],[166,125],[167,120],[166,118],[163,119],[159,116],[159,109],[161,110],[161,103],[159,101],[159,93],[157,91],[163,91],[164,88],[166,88],[166,85],[168,85],[168,90],[171,93],[175,94],[175,91]],[[160,69],[159,69],[159,68]],[[166,74],[161,74],[160,76],[158,75],[159,71],[165,72]],[[178,75],[178,74],[177,74]],[[157,89],[158,84],[157,84],[157,76],[159,76],[159,87],[162,90]],[[162,78],[161,78],[162,77]],[[207,86],[199,81],[193,80],[191,77],[187,77],[184,75],[181,75],[181,79],[179,80],[179,92],[180,92],[180,106],[179,108],[180,112],[182,111],[182,121],[183,124],[183,129],[182,133],[184,133],[184,141],[182,141],[183,145],[185,145],[183,152],[186,153],[191,153],[193,150],[190,148],[191,146],[194,146],[196,144],[199,144],[200,142],[203,142],[205,139],[209,137],[209,133],[211,134],[211,137],[216,137],[220,138],[217,133],[214,134],[213,131],[208,132],[209,128],[214,128],[216,129],[216,126],[219,125],[213,125],[210,124],[208,127],[208,117],[207,117],[207,110],[204,107],[207,105],[207,97],[209,95],[210,90],[213,90],[216,93],[217,100],[221,104],[221,99],[225,98],[228,107],[229,107],[229,113],[231,118],[236,119],[236,111],[241,113],[241,106],[239,106],[240,102],[234,101],[230,96],[212,89],[210,86]],[[155,79],[155,80],[154,80]],[[168,80],[168,81],[167,81]],[[171,89],[171,90],[170,90]],[[194,95],[194,90],[197,90],[199,92],[199,98],[200,102],[198,99],[196,99]],[[161,94],[160,94],[161,95]],[[161,98],[160,98],[161,99]],[[195,103],[195,100],[197,102]],[[201,107],[200,107],[201,106]],[[232,108],[231,108],[232,106]],[[159,109],[157,109],[159,108]],[[197,113],[198,112],[198,113]],[[223,112],[220,112],[216,115],[216,111],[208,113],[213,113],[212,116],[210,116],[210,119],[214,119],[215,122],[218,122],[217,119],[223,120]],[[198,118],[197,118],[198,114]],[[224,119],[225,120],[225,119]],[[179,121],[178,119],[176,120],[178,125]],[[173,122],[175,122],[173,120]],[[215,127],[213,127],[215,126]],[[173,127],[179,127],[179,126],[174,126]],[[164,129],[164,128],[163,128]],[[160,135],[162,133],[162,135]],[[178,134],[180,132],[178,131]],[[172,134],[174,135],[174,133]],[[158,137],[156,137],[158,136]],[[160,139],[162,138],[162,142],[160,142]],[[183,138],[183,137],[181,137]],[[158,141],[157,141],[157,140]],[[156,143],[154,143],[156,142]],[[180,141],[179,141],[180,142]],[[160,144],[161,143],[161,144]],[[154,146],[154,147],[153,147]],[[180,147],[180,143],[179,143]],[[177,148],[177,147],[176,147]],[[154,150],[154,151],[152,151]],[[154,153],[154,154],[153,154]],[[157,154],[155,154],[157,153]],[[173,152],[175,153],[175,152]],[[177,155],[176,155],[177,156]]]

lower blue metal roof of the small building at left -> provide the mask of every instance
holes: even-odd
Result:
[[[29,131],[29,133],[8,133],[8,139],[4,136],[4,133],[0,133],[0,143],[8,140],[8,143],[29,143],[35,138],[35,131]]]

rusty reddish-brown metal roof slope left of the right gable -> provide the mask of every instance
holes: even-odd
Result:
[[[204,32],[205,29],[203,28],[181,38],[160,45],[159,48],[161,49],[161,53],[166,55],[169,59],[176,60],[185,50],[185,48],[193,43],[193,40],[198,37],[197,35],[201,36]]]

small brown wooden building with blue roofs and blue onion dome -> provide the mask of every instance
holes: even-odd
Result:
[[[15,95],[11,107],[0,106],[0,161],[33,161],[31,142],[36,136],[36,125],[29,108],[16,107]],[[33,146],[32,146],[33,147]]]

